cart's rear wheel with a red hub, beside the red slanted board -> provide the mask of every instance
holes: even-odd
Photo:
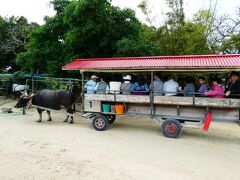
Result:
[[[177,120],[167,119],[162,123],[161,131],[166,137],[178,138],[182,133],[182,125]]]

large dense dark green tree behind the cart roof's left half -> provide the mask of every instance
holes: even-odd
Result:
[[[107,0],[82,0],[66,9],[70,30],[66,43],[72,56],[112,57],[118,41],[138,36],[140,23],[130,9],[119,9]]]

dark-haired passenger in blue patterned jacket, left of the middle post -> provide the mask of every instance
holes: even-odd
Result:
[[[145,95],[149,93],[149,87],[146,80],[142,74],[137,76],[137,82],[131,87],[131,91],[136,95]]]

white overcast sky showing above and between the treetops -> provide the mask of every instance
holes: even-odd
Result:
[[[54,12],[49,6],[50,0],[0,0],[0,15],[25,16],[30,22],[43,24],[44,16],[52,16]],[[155,25],[159,26],[164,21],[164,14],[167,12],[166,0],[149,0],[152,8],[152,17],[155,17]],[[212,0],[212,4],[217,3],[218,14],[235,14],[236,7],[240,7],[240,0]],[[141,21],[144,16],[137,7],[141,0],[112,0],[113,4],[121,8],[130,7],[136,11],[136,15]],[[191,18],[199,9],[209,6],[210,0],[184,0],[184,9],[187,18]]]

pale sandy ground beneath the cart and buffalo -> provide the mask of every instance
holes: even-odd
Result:
[[[58,114],[53,122],[36,123],[37,118],[35,110],[25,116],[0,114],[1,180],[240,177],[240,127],[235,124],[214,123],[209,133],[188,129],[181,138],[168,139],[144,117],[120,118],[104,132],[93,130],[89,121],[64,124]]]

